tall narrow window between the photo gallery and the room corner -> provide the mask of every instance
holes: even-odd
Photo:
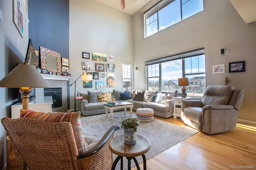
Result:
[[[132,65],[123,64],[123,91],[132,90]]]

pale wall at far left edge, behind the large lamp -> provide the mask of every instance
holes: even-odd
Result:
[[[1,0],[0,10],[2,10],[3,17],[3,20],[0,20],[0,79],[2,79],[16,66],[16,63],[24,63],[28,46],[28,17],[25,10],[22,9],[24,10],[24,38],[22,38],[13,23],[12,1]],[[10,61],[11,59],[12,61]],[[9,94],[12,90],[11,88],[0,87],[0,119],[10,115],[10,106],[14,102]],[[0,124],[0,169],[5,164],[6,131],[2,124]]]

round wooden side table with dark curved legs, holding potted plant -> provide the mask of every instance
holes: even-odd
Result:
[[[126,157],[128,159],[128,170],[131,169],[131,160],[133,159],[136,167],[138,170],[140,170],[140,166],[135,158],[135,156],[142,156],[143,158],[143,169],[146,170],[146,156],[145,153],[148,152],[150,149],[150,141],[142,135],[137,134],[136,136],[136,144],[134,145],[127,145],[124,144],[124,134],[118,135],[109,143],[110,150],[117,154],[118,157],[114,161],[111,170],[114,170],[116,168],[116,164],[121,159],[121,167],[123,166],[123,157]]]

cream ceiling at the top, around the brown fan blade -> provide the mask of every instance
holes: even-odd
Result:
[[[110,6],[116,10],[120,10],[126,14],[134,15],[143,6],[148,4],[150,1],[159,0],[124,0],[125,8],[121,9],[120,0],[95,0],[106,6]],[[230,0],[238,14],[243,18],[246,24],[256,21],[256,0]]]

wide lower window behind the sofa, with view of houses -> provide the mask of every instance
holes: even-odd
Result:
[[[188,77],[188,96],[202,97],[205,91],[204,49],[198,49],[153,61],[146,61],[147,90],[174,92],[181,88],[178,78]]]

